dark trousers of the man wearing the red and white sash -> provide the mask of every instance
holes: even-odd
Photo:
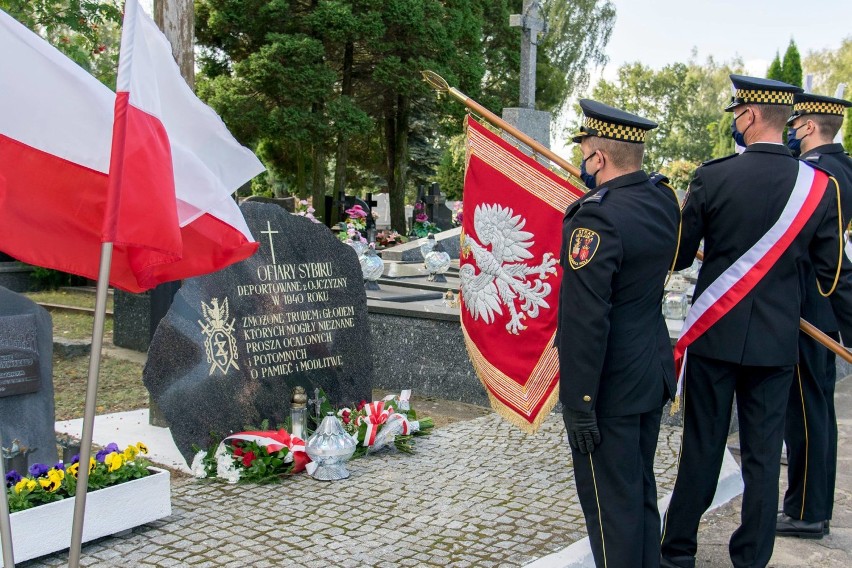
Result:
[[[753,367],[689,354],[683,385],[683,441],[677,480],[663,521],[662,555],[695,565],[698,524],[713,501],[736,394],[745,490],[741,524],[728,551],[736,568],[772,556],[784,416],[793,366]]]

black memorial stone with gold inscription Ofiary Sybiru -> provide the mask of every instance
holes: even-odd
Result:
[[[187,462],[211,432],[289,418],[292,390],[370,399],[372,349],[355,251],[274,205],[240,206],[257,253],[185,280],[148,349],[145,386]]]

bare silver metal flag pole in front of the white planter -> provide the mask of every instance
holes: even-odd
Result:
[[[71,546],[68,550],[69,568],[80,566],[80,547],[83,543],[83,521],[86,513],[86,493],[89,487],[89,461],[92,455],[92,434],[95,429],[95,403],[98,396],[98,373],[101,348],[104,342],[106,298],[109,289],[109,270],[112,264],[112,243],[101,245],[101,264],[95,296],[95,323],[92,331],[92,351],[89,354],[89,381],[86,384],[86,408],[83,412],[83,439],[80,441],[80,465],[77,469],[77,492],[74,497],[74,521],[71,525]]]

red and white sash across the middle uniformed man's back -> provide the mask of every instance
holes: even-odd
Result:
[[[693,301],[675,344],[678,395],[683,389],[687,347],[731,311],[775,265],[819,205],[827,182],[824,172],[799,162],[796,185],[772,228]]]

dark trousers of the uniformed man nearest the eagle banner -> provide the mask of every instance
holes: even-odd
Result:
[[[661,415],[662,406],[643,414],[599,416],[601,443],[595,451],[571,449],[596,566],[660,565],[654,456]]]

